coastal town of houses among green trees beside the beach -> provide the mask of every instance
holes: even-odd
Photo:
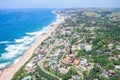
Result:
[[[12,80],[120,80],[120,9],[54,12],[64,22]]]

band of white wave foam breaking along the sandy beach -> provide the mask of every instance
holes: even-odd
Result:
[[[29,32],[26,33],[26,36],[22,37],[21,39],[15,39],[13,44],[8,44],[7,48],[5,49],[6,52],[1,54],[0,59],[5,59],[6,63],[0,63],[0,69],[5,68],[8,65],[12,65],[17,63],[20,60],[20,57],[24,54],[26,49],[28,49],[40,36],[44,33],[48,32],[52,26],[59,21],[60,17],[57,16],[55,22],[52,22],[50,25],[43,27],[42,30],[36,32]],[[7,41],[1,43],[9,43]],[[9,60],[7,60],[9,59]],[[7,62],[8,61],[8,62]]]

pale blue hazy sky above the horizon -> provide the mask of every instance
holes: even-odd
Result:
[[[119,7],[120,0],[0,0],[0,8]]]

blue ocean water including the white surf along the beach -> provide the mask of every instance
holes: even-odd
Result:
[[[0,69],[14,64],[55,20],[49,9],[0,10]]]

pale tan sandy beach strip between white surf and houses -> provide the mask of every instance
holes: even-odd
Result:
[[[60,17],[60,20],[56,22],[47,33],[40,36],[40,38],[29,49],[26,50],[20,61],[8,68],[5,68],[0,74],[0,80],[11,80],[14,74],[32,57],[34,50],[41,44],[41,42],[44,41],[47,37],[51,36],[51,33],[63,21],[64,17]]]

